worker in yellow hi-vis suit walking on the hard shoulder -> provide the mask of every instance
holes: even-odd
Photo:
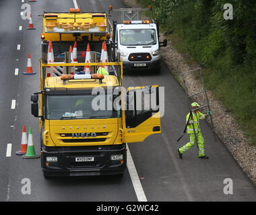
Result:
[[[203,120],[209,115],[212,115],[212,112],[208,112],[207,114],[202,114],[197,109],[200,105],[196,102],[191,103],[192,112],[187,114],[186,123],[187,123],[187,133],[189,134],[190,141],[178,149],[179,157],[182,159],[183,153],[185,153],[189,148],[194,146],[195,144],[195,135],[197,136],[197,144],[199,149],[199,159],[209,159],[204,153],[203,146],[203,135],[201,134],[201,129],[199,128],[199,120]],[[190,118],[189,118],[190,116]],[[188,121],[189,120],[189,121]]]

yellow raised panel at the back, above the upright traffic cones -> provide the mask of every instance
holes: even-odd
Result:
[[[74,26],[73,30],[69,26]],[[108,33],[105,13],[44,13],[43,30],[46,41],[80,41],[83,36],[88,36],[89,41],[99,41],[106,40]]]

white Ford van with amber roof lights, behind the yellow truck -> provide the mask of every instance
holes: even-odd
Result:
[[[148,10],[152,11],[152,7]],[[159,41],[158,23],[152,19],[141,20],[139,12],[145,9],[110,7],[110,11],[119,11],[122,15],[121,22],[113,21],[112,40],[115,52],[120,52],[123,58],[123,69],[160,73],[160,46],[166,46],[167,40]]]

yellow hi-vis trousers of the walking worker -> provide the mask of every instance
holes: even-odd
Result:
[[[185,153],[187,150],[189,150],[189,148],[192,148],[192,146],[194,146],[195,134],[189,134],[189,138],[190,138],[190,141],[187,144],[185,144],[184,146],[182,146],[181,148],[179,148],[181,154]],[[201,131],[199,131],[197,134],[199,157],[205,156],[203,142],[204,142],[203,135],[201,134]]]

